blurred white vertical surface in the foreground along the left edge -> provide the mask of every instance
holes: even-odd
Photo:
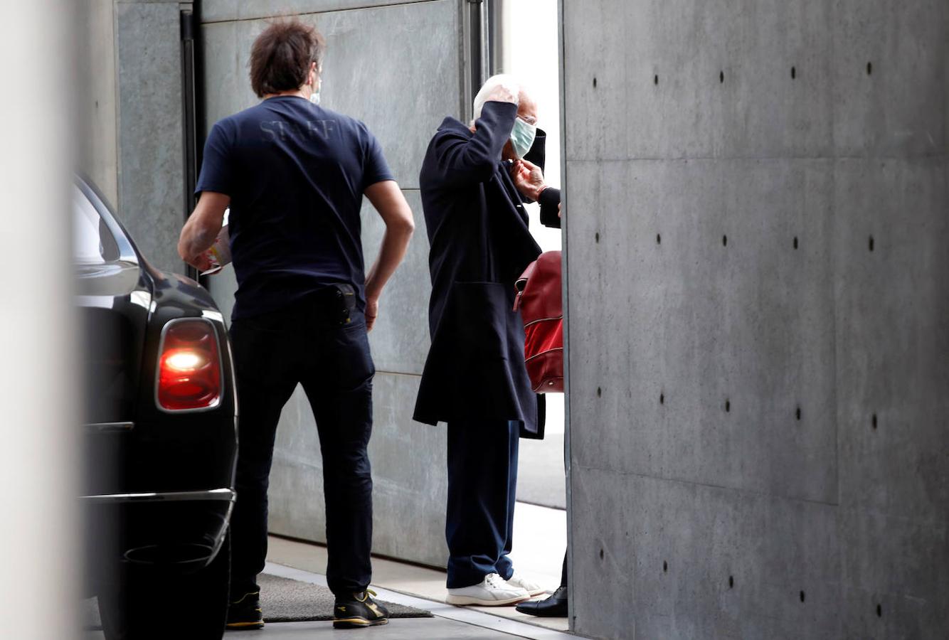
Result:
[[[69,118],[79,3],[17,3],[0,22],[0,636],[78,635]]]

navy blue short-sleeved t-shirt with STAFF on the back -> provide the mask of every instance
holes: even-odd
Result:
[[[356,119],[278,96],[214,124],[195,192],[231,196],[233,318],[268,313],[330,283],[364,310],[363,192],[394,180]]]

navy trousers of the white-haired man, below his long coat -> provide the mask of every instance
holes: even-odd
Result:
[[[518,422],[448,423],[449,589],[470,587],[488,574],[508,579],[517,489]]]

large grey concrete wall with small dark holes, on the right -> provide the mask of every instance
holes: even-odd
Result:
[[[949,6],[563,2],[571,615],[949,629]]]

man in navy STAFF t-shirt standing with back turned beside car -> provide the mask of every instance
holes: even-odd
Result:
[[[251,48],[251,85],[264,99],[214,124],[178,252],[198,269],[230,207],[237,293],[231,326],[240,420],[231,521],[228,628],[259,629],[256,576],[267,556],[267,486],[280,411],[302,384],[316,418],[326,497],[326,579],[335,627],[387,622],[366,592],[372,569],[375,369],[366,332],[382,287],[405,255],[412,211],[365,125],[319,106],[325,44],[312,27],[267,27]],[[365,195],[386,231],[363,269]]]

